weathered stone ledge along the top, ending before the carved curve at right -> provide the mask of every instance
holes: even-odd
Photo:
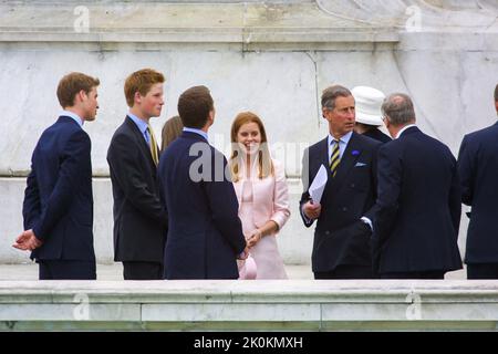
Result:
[[[80,10],[77,10],[77,8]],[[83,12],[80,12],[83,11]],[[151,17],[151,13],[154,13]],[[87,21],[81,19],[87,14]],[[199,25],[201,24],[201,25]],[[0,4],[0,42],[395,43],[397,31],[333,17],[313,1]],[[293,48],[299,48],[294,45]]]

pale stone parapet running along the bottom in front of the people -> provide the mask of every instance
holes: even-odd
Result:
[[[496,330],[497,321],[498,281],[0,282],[0,330],[13,331]]]

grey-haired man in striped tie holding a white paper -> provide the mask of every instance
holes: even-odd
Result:
[[[304,152],[304,192],[300,210],[304,226],[318,220],[312,269],[315,279],[370,279],[370,238],[375,205],[378,142],[353,132],[354,98],[340,85],[323,91],[322,115],[329,136]],[[309,181],[323,165],[326,186],[320,200],[310,200]]]

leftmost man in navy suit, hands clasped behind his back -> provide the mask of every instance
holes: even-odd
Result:
[[[91,143],[82,127],[95,119],[98,84],[82,73],[62,77],[58,98],[64,111],[33,152],[22,206],[25,231],[13,247],[32,251],[41,280],[96,279]]]

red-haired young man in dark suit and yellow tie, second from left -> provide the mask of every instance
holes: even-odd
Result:
[[[167,215],[157,184],[158,146],[149,125],[164,105],[164,76],[132,73],[124,91],[129,112],[107,150],[114,197],[114,260],[125,280],[163,279]]]

